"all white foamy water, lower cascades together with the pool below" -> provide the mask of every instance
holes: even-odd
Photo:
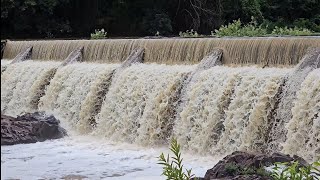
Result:
[[[26,61],[7,65],[1,75],[2,112],[46,111],[70,135],[3,146],[3,179],[164,179],[157,156],[168,152],[171,137],[190,151],[183,155],[186,167],[204,176],[220,159],[215,155],[269,146],[277,94],[292,72],[218,66],[186,84],[195,66],[134,64],[113,76],[119,65],[57,65]],[[308,161],[319,154],[319,77],[314,70],[298,87],[293,118],[283,126],[283,151]]]

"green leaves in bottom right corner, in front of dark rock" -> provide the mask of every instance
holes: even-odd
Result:
[[[289,163],[275,163],[271,177],[275,180],[314,180],[318,179],[320,161],[308,166],[299,166],[297,161]]]

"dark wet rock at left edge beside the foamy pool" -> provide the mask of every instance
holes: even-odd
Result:
[[[1,145],[35,143],[65,136],[54,116],[42,112],[27,113],[17,118],[1,114]]]

